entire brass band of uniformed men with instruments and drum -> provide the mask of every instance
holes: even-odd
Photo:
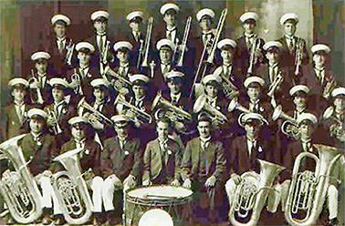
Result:
[[[128,13],[111,37],[95,11],[78,41],[53,15],[30,72],[8,81],[7,223],[338,225],[345,87],[332,46],[296,36],[293,12],[277,40],[256,35],[256,12],[239,38],[224,35],[226,8]]]

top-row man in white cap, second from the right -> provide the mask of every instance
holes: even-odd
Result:
[[[239,18],[245,31],[244,36],[236,40],[238,65],[242,68],[243,75],[256,74],[256,68],[264,63],[265,41],[256,35],[258,19],[259,16],[255,12],[246,12]]]

